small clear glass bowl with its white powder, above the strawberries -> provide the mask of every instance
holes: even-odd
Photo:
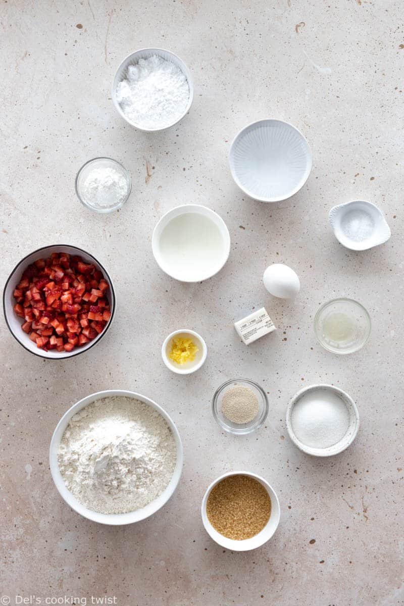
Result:
[[[130,196],[130,174],[112,158],[93,158],[86,162],[76,176],[79,201],[96,213],[111,213],[121,208]]]

